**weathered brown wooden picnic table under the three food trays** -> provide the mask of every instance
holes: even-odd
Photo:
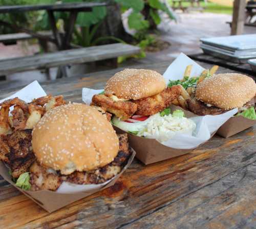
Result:
[[[168,65],[137,67],[163,73]],[[81,102],[82,87],[102,88],[117,71],[41,85],[47,93]],[[232,71],[220,67],[218,72]],[[14,91],[2,90],[0,99]],[[229,139],[215,135],[191,153],[148,166],[135,159],[113,187],[51,214],[0,179],[0,227],[255,228],[255,134],[254,126]]]

